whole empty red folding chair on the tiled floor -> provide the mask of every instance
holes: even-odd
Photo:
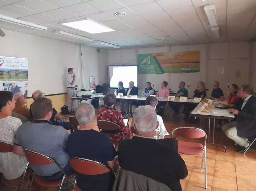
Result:
[[[183,138],[202,138],[204,137],[204,143],[196,143],[196,142],[184,142],[178,141],[178,152],[185,155],[200,155],[203,154],[205,157],[205,166],[189,166],[194,168],[204,168],[205,169],[205,188],[207,188],[207,165],[206,165],[206,133],[202,129],[198,129],[195,127],[179,127],[173,130],[172,137],[179,136]],[[203,163],[203,160],[202,160]]]

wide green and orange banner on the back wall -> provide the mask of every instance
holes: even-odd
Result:
[[[139,74],[200,72],[200,50],[138,54]]]

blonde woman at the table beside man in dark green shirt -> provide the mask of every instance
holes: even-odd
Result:
[[[205,99],[206,97],[206,88],[205,88],[205,83],[204,82],[199,82],[197,84],[197,89],[195,89],[194,91],[194,95],[193,98],[202,98]],[[190,115],[190,112],[196,107],[195,104],[186,104],[184,109],[183,109],[183,113],[186,116]]]

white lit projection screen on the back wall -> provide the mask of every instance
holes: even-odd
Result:
[[[118,88],[118,82],[122,81],[124,88],[129,87],[133,81],[137,87],[137,65],[109,65],[110,88]]]

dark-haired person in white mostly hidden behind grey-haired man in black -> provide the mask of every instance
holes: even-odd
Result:
[[[151,107],[156,109],[157,104],[158,104],[158,100],[156,97],[153,97],[153,96],[147,97],[145,105],[150,105]],[[157,121],[159,122],[159,126],[156,129],[156,131],[160,134],[161,138],[164,138],[164,136],[169,135],[169,133],[167,132],[163,124],[163,119],[160,115],[157,115]],[[132,121],[131,127],[133,127],[133,121]]]

